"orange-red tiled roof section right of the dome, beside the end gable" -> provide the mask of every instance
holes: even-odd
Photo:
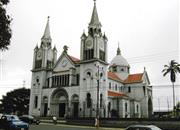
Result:
[[[131,74],[128,76],[126,80],[124,80],[124,83],[139,83],[142,82],[142,76],[143,73],[139,74]]]

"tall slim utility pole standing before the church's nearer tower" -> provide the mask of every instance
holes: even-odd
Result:
[[[97,109],[96,109],[96,120],[95,120],[95,126],[99,128],[99,87],[100,87],[100,78],[103,76],[102,73],[99,73],[100,67],[99,65],[96,65],[97,67]],[[103,70],[103,67],[102,67]]]

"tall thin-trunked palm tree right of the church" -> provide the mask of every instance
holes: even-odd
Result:
[[[175,93],[174,93],[174,83],[176,82],[176,73],[180,73],[180,64],[175,60],[171,60],[169,65],[164,65],[164,69],[162,70],[163,76],[166,76],[168,73],[170,74],[170,80],[172,82],[173,87],[173,110],[175,108]]]

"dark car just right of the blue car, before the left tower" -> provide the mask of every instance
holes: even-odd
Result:
[[[39,119],[37,119],[31,115],[22,115],[19,117],[19,119],[26,122],[26,123],[29,123],[29,124],[39,125],[39,123],[40,123]]]

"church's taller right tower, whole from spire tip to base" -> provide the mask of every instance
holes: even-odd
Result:
[[[100,101],[101,105],[103,104],[102,108],[107,106],[105,104],[108,101],[106,90],[108,39],[102,34],[101,27],[94,0],[88,33],[84,31],[81,35],[80,53],[80,107],[90,117],[98,114]]]

